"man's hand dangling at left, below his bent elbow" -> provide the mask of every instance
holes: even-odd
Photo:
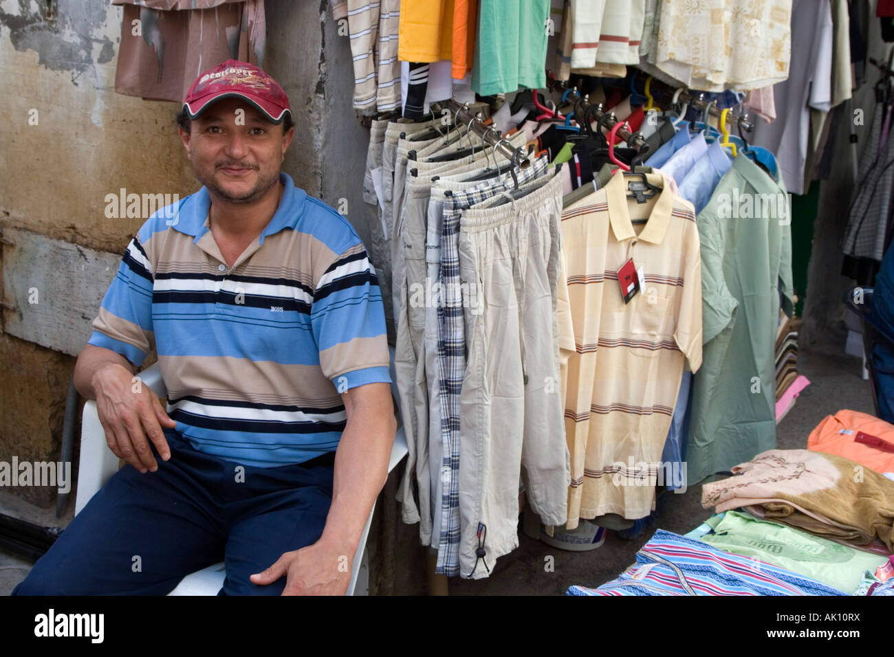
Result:
[[[170,459],[162,427],[173,429],[177,423],[164,412],[156,393],[135,378],[127,367],[108,363],[97,368],[90,383],[109,449],[140,472],[155,472],[158,463],[149,441],[162,459]]]

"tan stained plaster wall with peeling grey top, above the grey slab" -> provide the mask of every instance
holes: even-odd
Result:
[[[106,218],[105,194],[196,189],[176,137],[177,105],[114,93],[120,7],[54,4],[51,21],[42,0],[0,4],[0,225],[120,253],[141,220]]]

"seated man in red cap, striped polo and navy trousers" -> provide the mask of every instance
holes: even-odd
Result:
[[[178,122],[203,187],[140,228],[75,366],[128,465],[13,594],[167,594],[219,560],[221,594],[344,594],[396,430],[375,270],[280,172],[273,78],[215,66]]]

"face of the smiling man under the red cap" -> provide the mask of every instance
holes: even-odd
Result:
[[[283,134],[240,98],[207,107],[180,138],[198,181],[231,203],[252,203],[279,181],[280,164],[295,134]]]

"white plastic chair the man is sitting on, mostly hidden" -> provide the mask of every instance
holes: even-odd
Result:
[[[392,394],[397,398],[397,386],[393,383],[395,381],[393,348],[391,350],[391,374]],[[162,381],[161,370],[157,363],[140,372],[139,378],[159,397],[164,397],[167,394]],[[394,436],[391,459],[388,461],[388,472],[391,472],[394,466],[400,463],[406,454],[407,439],[404,435],[399,415],[397,434]],[[87,505],[90,498],[103,487],[105,482],[109,480],[109,477],[114,475],[117,470],[118,457],[112,453],[105,442],[105,431],[103,426],[99,424],[99,416],[97,415],[97,403],[88,401],[84,405],[83,419],[80,425],[80,465],[78,469],[78,493],[74,506],[75,515],[80,513],[80,510]],[[373,521],[374,512],[375,502],[373,503],[373,509],[369,512],[367,525],[363,527],[363,534],[360,535],[360,543],[358,544],[357,553],[354,555],[354,562],[351,565],[350,585],[348,585],[347,595],[354,595],[357,590],[363,595],[368,593],[369,568],[367,565],[366,547],[369,526]],[[223,586],[224,576],[223,561],[221,561],[213,566],[208,566],[206,569],[197,570],[183,577],[180,584],[168,595],[216,595]]]

